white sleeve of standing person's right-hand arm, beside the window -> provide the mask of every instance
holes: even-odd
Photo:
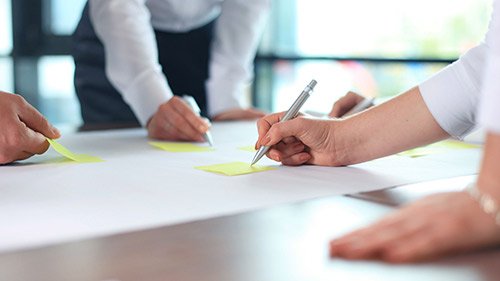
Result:
[[[245,85],[253,78],[269,0],[226,0],[215,23],[207,81],[208,114],[241,108]]]

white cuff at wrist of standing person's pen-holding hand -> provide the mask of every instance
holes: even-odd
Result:
[[[158,111],[158,107],[172,98],[165,76],[161,72],[148,70],[136,77],[123,92],[123,98],[132,108],[142,126]]]

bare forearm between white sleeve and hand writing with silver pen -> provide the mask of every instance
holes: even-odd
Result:
[[[342,121],[337,143],[354,164],[449,137],[428,110],[418,87]]]

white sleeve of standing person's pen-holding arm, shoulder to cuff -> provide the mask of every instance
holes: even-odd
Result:
[[[106,54],[106,75],[139,122],[172,96],[158,63],[158,48],[145,0],[89,0],[90,19]]]

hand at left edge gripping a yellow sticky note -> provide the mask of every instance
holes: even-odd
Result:
[[[45,137],[60,136],[24,98],[0,91],[0,164],[42,154],[49,148]]]

